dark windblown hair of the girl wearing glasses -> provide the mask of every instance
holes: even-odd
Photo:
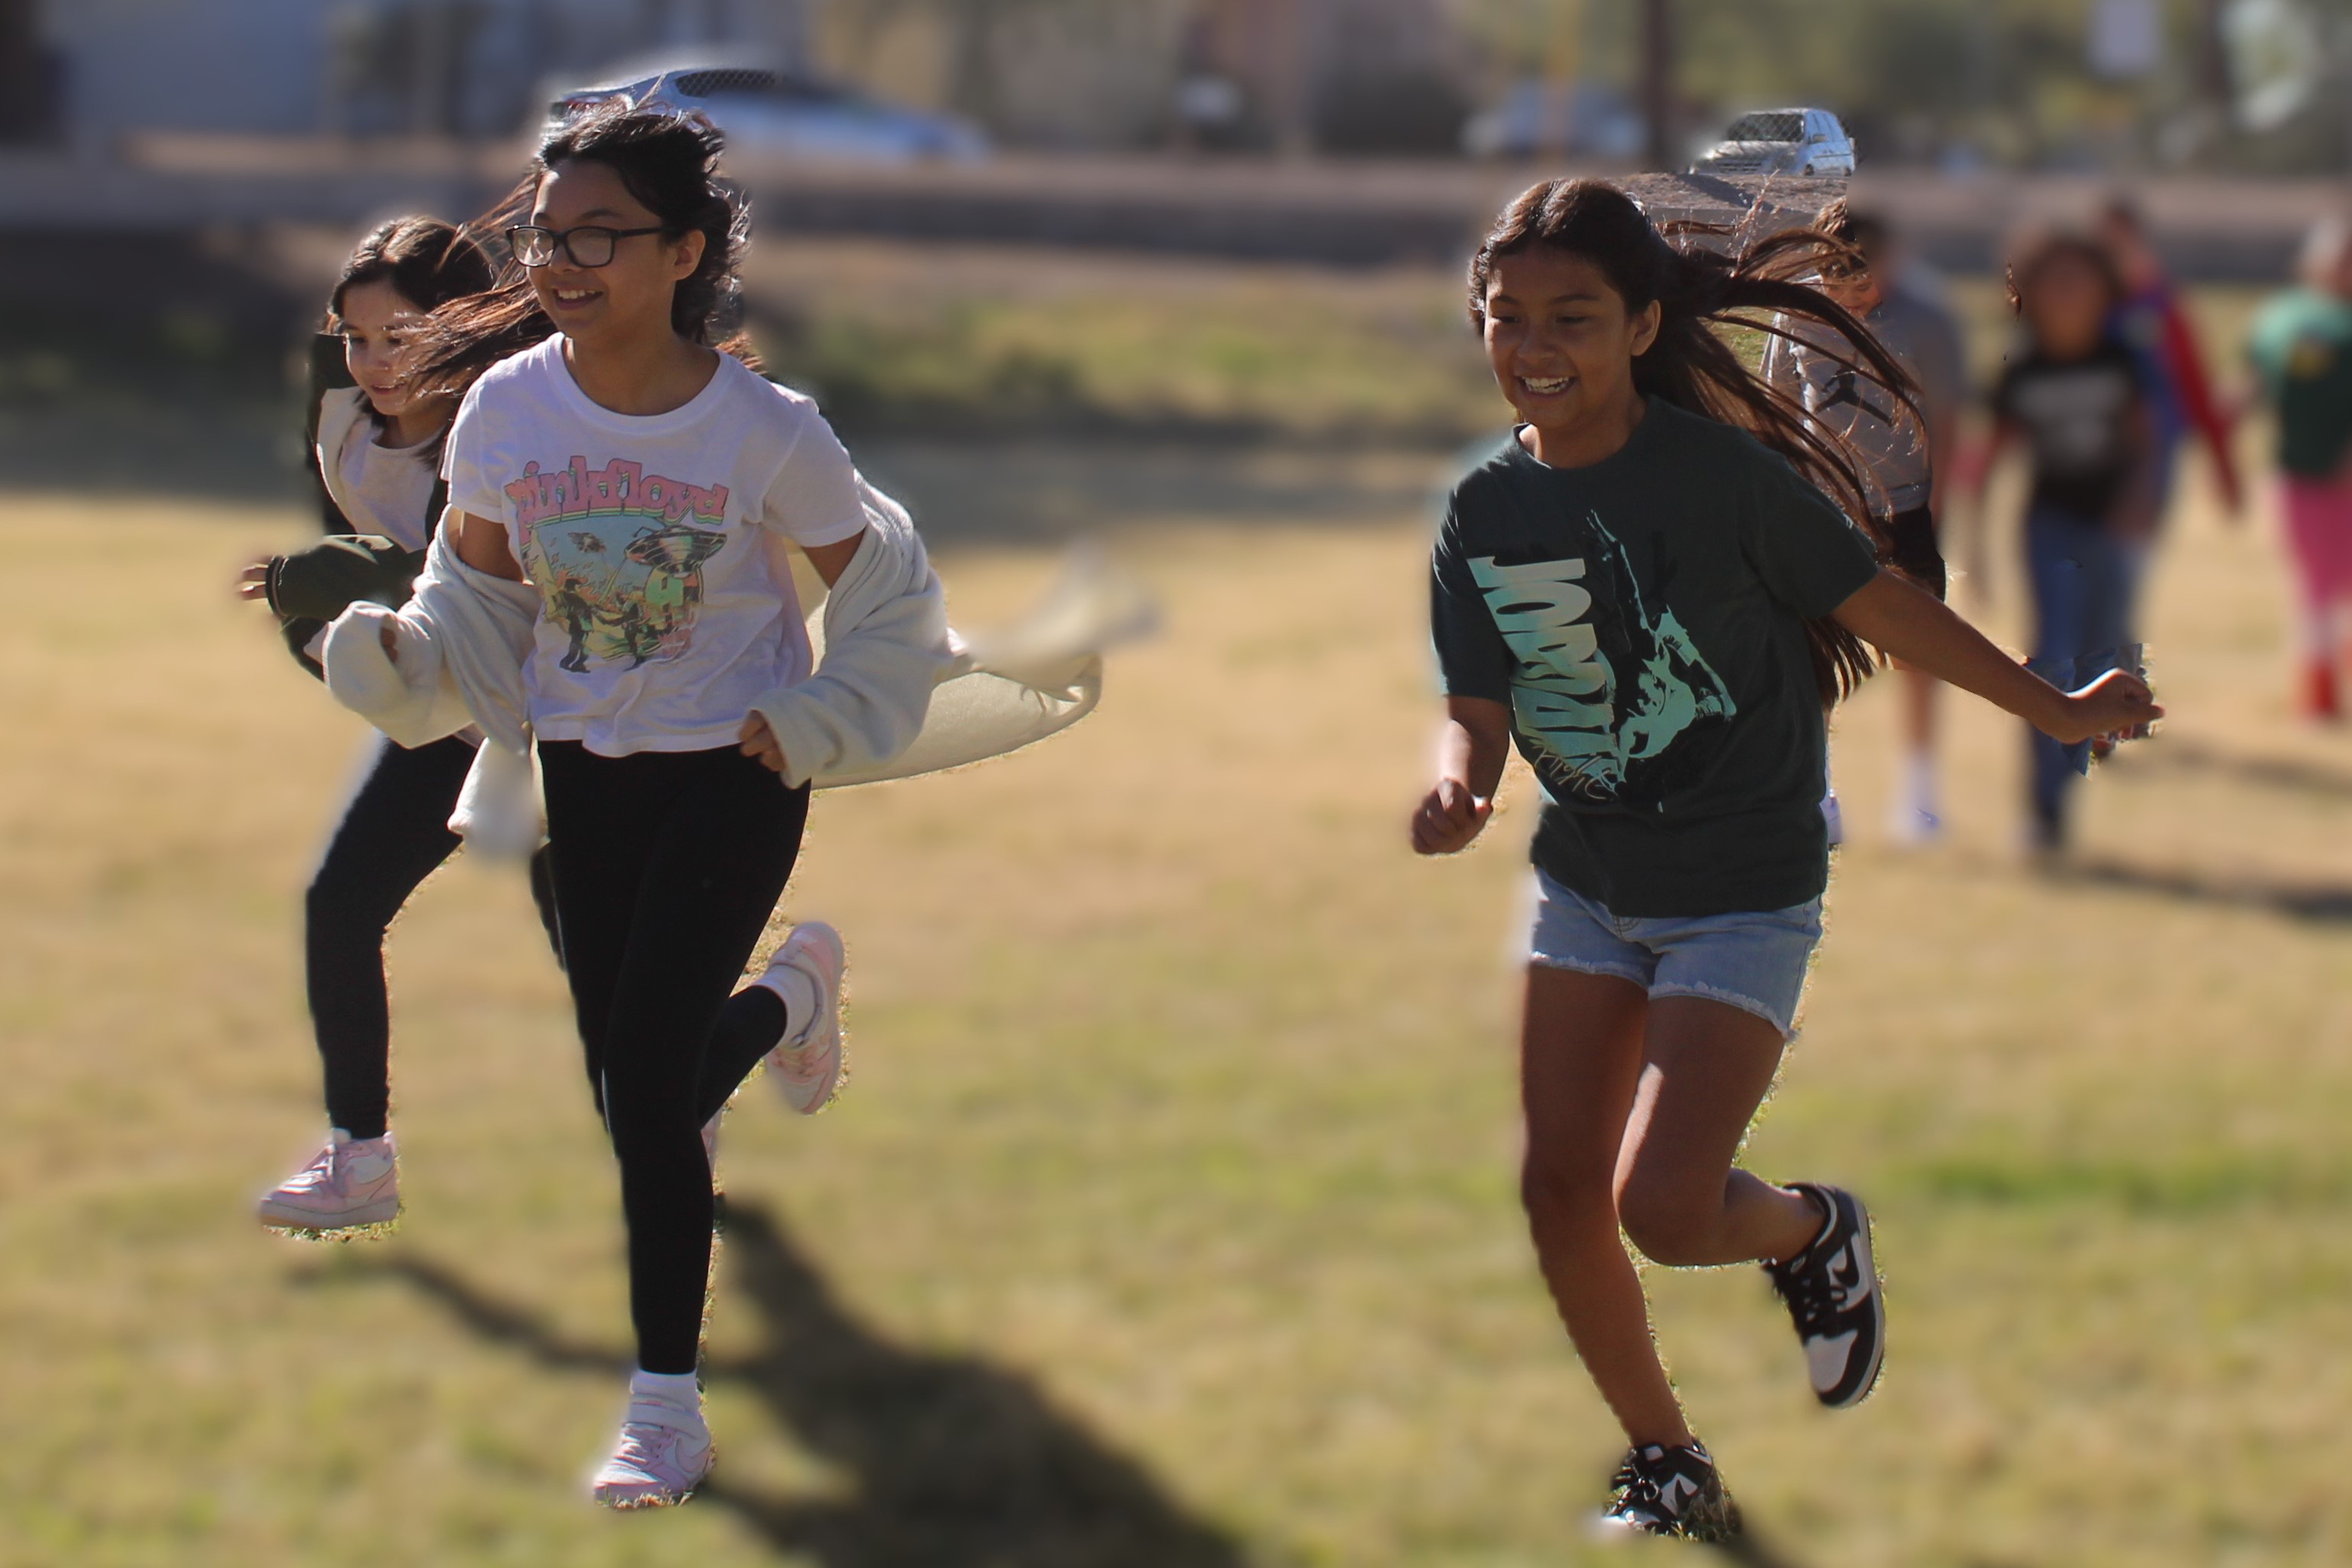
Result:
[[[717,176],[722,148],[724,139],[708,120],[640,110],[614,99],[548,136],[529,174],[473,228],[503,235],[515,223],[529,223],[539,181],[557,165],[604,165],[661,221],[666,240],[703,235],[701,263],[670,299],[670,329],[691,343],[710,343],[727,331],[734,313],[736,266],[748,233],[743,205]],[[529,270],[508,256],[494,289],[435,310],[412,334],[412,374],[419,388],[463,393],[485,369],[553,331],[555,322],[532,294]],[[750,357],[741,339],[720,348]]]

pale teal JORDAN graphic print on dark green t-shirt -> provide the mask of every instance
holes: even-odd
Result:
[[[1503,564],[1475,557],[1519,668],[1510,679],[1517,729],[1541,752],[1555,797],[1658,806],[1696,764],[1689,733],[1738,708],[1672,609],[1651,616],[1625,545],[1592,512],[1592,557]]]

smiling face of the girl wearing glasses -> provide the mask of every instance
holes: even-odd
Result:
[[[560,162],[539,179],[532,223],[557,233],[600,228],[656,228],[661,219],[644,207],[607,165]],[[619,240],[612,261],[600,268],[579,266],[569,249],[557,249],[548,266],[532,268],[532,292],[574,343],[630,341],[640,334],[670,334],[670,299],[677,284],[703,261],[703,235],[635,235]]]

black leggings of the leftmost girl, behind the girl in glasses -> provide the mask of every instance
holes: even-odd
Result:
[[[449,811],[473,766],[459,738],[405,750],[379,741],[360,792],[343,809],[303,896],[303,973],[310,1025],[327,1067],[327,1121],[381,1138],[390,1114],[393,1023],[383,990],[383,933],[461,839]],[[532,858],[532,898],[555,943],[546,851]]]

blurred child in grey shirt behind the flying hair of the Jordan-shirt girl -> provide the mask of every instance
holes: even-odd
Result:
[[[1813,228],[1853,247],[1823,266],[1820,289],[1851,310],[1910,378],[1912,407],[1870,381],[1844,339],[1783,317],[1792,336],[1764,350],[1764,378],[1804,404],[1809,421],[1849,442],[1870,480],[1870,503],[1884,517],[1886,562],[1938,599],[1947,574],[1940,548],[1943,475],[1950,468],[1966,400],[1959,322],[1905,280],[1886,223],[1853,212],[1844,197],[1820,209]],[[1936,806],[1936,679],[1903,668],[1903,783],[1889,813],[1898,844],[1924,844],[1943,827]],[[1823,797],[1837,842],[1837,792]]]

